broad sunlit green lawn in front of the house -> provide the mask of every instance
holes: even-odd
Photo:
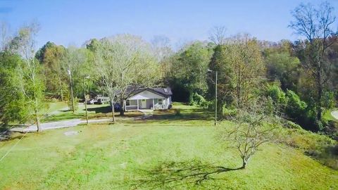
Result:
[[[284,144],[265,144],[246,169],[232,170],[241,160],[216,138],[212,113],[181,108],[180,116],[27,134],[0,163],[0,189],[338,189],[337,170]],[[0,156],[21,135],[0,142]]]

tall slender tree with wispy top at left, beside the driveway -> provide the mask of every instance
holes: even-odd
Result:
[[[41,75],[41,66],[35,58],[35,35],[39,30],[38,25],[33,23],[20,28],[18,35],[11,41],[11,51],[20,54],[23,61],[18,65],[18,90],[25,97],[25,106],[20,109],[27,110],[25,117],[35,120],[37,132],[40,127],[40,110],[44,104],[44,82]]]

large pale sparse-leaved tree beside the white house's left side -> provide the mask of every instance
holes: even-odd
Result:
[[[150,44],[140,37],[130,34],[121,34],[110,39],[101,40],[102,49],[99,64],[100,75],[106,87],[111,101],[118,96],[120,99],[120,115],[125,112],[125,99],[127,89],[131,86],[150,87],[158,80],[158,63],[151,52]],[[118,94],[115,92],[118,91]],[[112,110],[113,111],[113,110]]]

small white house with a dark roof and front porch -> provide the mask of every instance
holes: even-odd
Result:
[[[139,88],[127,91],[125,110],[164,110],[171,107],[173,93],[167,88]]]

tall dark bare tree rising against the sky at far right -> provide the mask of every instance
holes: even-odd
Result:
[[[315,80],[318,121],[322,118],[323,90],[330,79],[332,66],[327,59],[327,51],[337,41],[337,32],[332,29],[336,20],[333,10],[327,2],[317,8],[311,4],[300,4],[292,11],[294,20],[289,25],[297,34],[306,38],[304,68],[311,72]]]

